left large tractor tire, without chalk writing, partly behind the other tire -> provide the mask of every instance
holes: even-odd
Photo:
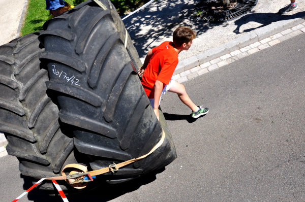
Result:
[[[39,47],[39,34],[0,46],[0,131],[7,138],[8,154],[18,158],[21,174],[33,182],[60,176],[64,165],[77,162],[73,137],[59,128],[58,108],[46,93],[49,78],[40,69],[38,56],[44,49]],[[40,188],[54,189],[48,182]]]

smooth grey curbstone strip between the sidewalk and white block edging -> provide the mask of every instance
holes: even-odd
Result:
[[[280,33],[281,31],[284,31],[287,28],[291,28],[303,22],[305,22],[305,17],[303,16],[302,13],[298,13],[294,16],[294,18],[288,16],[284,20],[273,22],[264,27],[255,29],[247,33],[246,35],[243,35],[230,42],[209,49],[205,52],[192,56],[188,59],[179,61],[177,68],[174,72],[174,75],[178,75],[181,74],[182,72],[191,70],[192,68],[196,68],[196,66],[201,66],[206,62],[210,62],[213,61],[214,59],[218,59],[221,56],[224,56],[228,53],[232,53],[236,50],[239,50],[256,42],[259,42],[265,38],[275,35],[276,33]]]

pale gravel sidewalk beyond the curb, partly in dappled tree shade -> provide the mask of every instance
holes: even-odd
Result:
[[[193,17],[193,9],[201,1],[157,1],[125,19],[125,26],[133,39],[140,58],[143,60],[149,49],[158,46],[163,41],[171,41],[172,32],[179,25],[188,25],[197,31],[197,38],[193,40],[192,47],[179,54],[179,60],[182,61],[236,40],[260,27],[271,26],[265,29],[271,28],[273,30],[273,33],[266,33],[265,37],[270,37],[289,28],[287,20],[305,19],[305,0],[298,0],[299,8],[285,15],[278,14],[278,11],[288,4],[289,0],[258,0],[251,13],[240,18],[223,23],[204,24]],[[279,21],[281,22],[279,23]],[[269,36],[267,36],[268,34]],[[251,36],[247,36],[243,40],[246,41],[249,37]]]

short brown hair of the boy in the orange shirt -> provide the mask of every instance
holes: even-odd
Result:
[[[196,38],[196,31],[188,26],[179,26],[173,32],[174,45],[179,47],[184,43],[189,43]]]

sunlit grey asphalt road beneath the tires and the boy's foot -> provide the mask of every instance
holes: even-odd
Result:
[[[165,94],[178,158],[156,178],[69,201],[305,201],[304,55],[303,33],[184,83],[210,109],[197,120]],[[24,191],[23,179],[15,157],[0,163],[1,201],[11,201]],[[19,201],[61,199],[33,190]]]

